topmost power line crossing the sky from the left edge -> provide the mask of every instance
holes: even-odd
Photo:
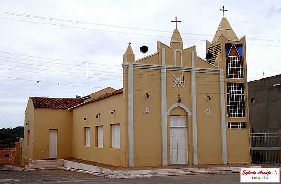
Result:
[[[5,12],[5,11],[0,11],[0,14],[12,15],[12,16],[20,16],[20,17],[28,17],[28,18],[37,18],[37,19],[44,19],[44,20],[63,21],[63,22],[70,22],[70,23],[99,25],[99,26],[104,26],[104,27],[113,27],[113,28],[122,28],[122,29],[133,29],[133,30],[143,30],[143,31],[154,31],[154,32],[171,33],[170,31],[165,31],[165,30],[144,29],[144,28],[136,28],[136,27],[125,27],[125,26],[122,26],[122,25],[112,25],[112,24],[102,24],[102,23],[95,23],[95,22],[66,20],[66,19],[61,19],[61,18],[42,17],[42,16],[34,16],[34,15],[28,15],[28,14],[19,14],[19,13],[13,13],[13,12]],[[213,37],[215,37],[214,35],[198,34],[198,33],[182,32],[181,34],[197,35],[197,36],[213,36]],[[260,38],[247,38],[247,39],[249,39],[249,40],[275,41],[275,42],[280,42],[281,41],[280,39],[260,39]]]

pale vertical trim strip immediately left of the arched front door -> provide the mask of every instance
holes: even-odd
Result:
[[[161,66],[161,111],[162,111],[162,165],[168,165],[168,142],[167,142],[167,94],[166,94],[166,58],[165,48],[162,48],[162,66]]]

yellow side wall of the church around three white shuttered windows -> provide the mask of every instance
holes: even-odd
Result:
[[[85,104],[72,109],[72,157],[115,166],[125,166],[125,123],[123,119],[123,94]],[[110,114],[115,110],[114,114]],[[100,113],[100,117],[96,115]],[[87,120],[84,117],[87,116]],[[110,147],[110,124],[120,123],[121,148]],[[96,126],[103,126],[103,147],[96,147]],[[90,127],[90,147],[83,146],[84,127]]]

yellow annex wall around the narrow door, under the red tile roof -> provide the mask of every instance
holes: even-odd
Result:
[[[72,112],[67,109],[35,108],[33,159],[49,159],[49,131],[57,129],[57,158],[71,157]]]

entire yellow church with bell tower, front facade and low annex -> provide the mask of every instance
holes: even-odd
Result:
[[[208,61],[170,46],[123,55],[123,89],[81,99],[30,97],[23,163],[74,157],[121,167],[250,163],[245,36],[223,18]]]

